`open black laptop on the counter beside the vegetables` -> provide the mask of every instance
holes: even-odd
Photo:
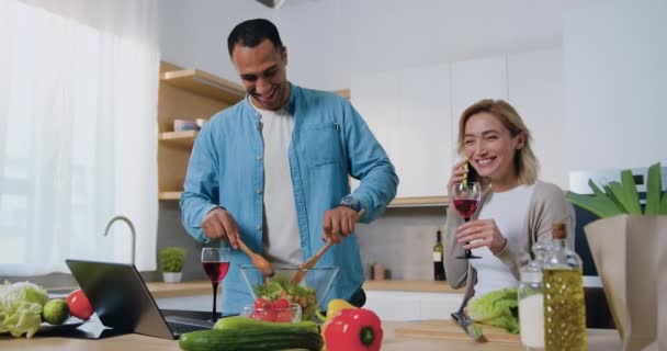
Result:
[[[65,260],[100,321],[117,333],[178,339],[184,332],[211,329],[213,322],[167,316],[155,303],[134,264]]]

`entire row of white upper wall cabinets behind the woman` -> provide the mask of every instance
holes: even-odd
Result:
[[[563,87],[562,50],[549,49],[359,76],[352,103],[396,166],[398,199],[445,195],[461,159],[459,118],[482,99],[517,107],[533,133],[541,179],[567,189]]]

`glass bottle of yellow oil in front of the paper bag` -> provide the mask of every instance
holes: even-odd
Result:
[[[543,265],[544,347],[546,351],[586,350],[586,306],[581,259],[565,245],[567,233],[554,224],[553,249]]]

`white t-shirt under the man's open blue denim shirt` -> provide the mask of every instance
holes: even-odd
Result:
[[[284,109],[258,109],[248,100],[261,115],[264,141],[263,254],[273,262],[299,264],[303,254],[289,159],[294,116]]]

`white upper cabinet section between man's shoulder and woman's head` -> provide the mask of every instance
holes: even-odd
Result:
[[[449,65],[352,80],[352,103],[398,172],[396,197],[445,193],[443,184],[449,178],[452,149],[449,82]]]

